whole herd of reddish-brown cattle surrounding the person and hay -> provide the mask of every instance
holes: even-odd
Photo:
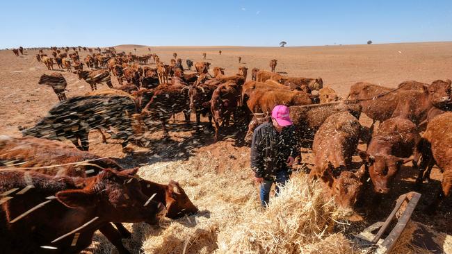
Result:
[[[42,52],[36,57],[49,70],[53,59],[70,73],[73,67],[92,92],[67,99],[63,75],[42,75],[39,83],[50,85],[60,103],[35,126],[23,129],[24,137],[0,139],[0,232],[5,236],[0,241],[7,252],[75,253],[89,246],[95,230],[100,230],[120,253],[128,253],[121,238],[130,232],[120,223],[153,223],[163,214],[175,219],[197,212],[178,183],[152,183],[136,176],[137,169],[124,169],[113,159],[88,153],[90,130],[99,131],[104,142],[104,132],[122,139],[128,152],[129,142],[148,144],[144,134],[155,128],[155,122],[169,137],[166,122],[179,112],[187,122],[195,113],[195,128],[201,115],[209,117],[209,127],[213,119],[215,141],[220,127],[228,126],[231,119],[236,127],[248,124],[245,141],[249,143],[253,130],[270,121],[268,112],[275,105],[289,106],[296,126],[293,138],[314,152],[309,176],[325,183],[326,193],[344,207],[353,207],[367,184],[376,193],[387,194],[407,162],[419,170],[418,187],[435,164],[443,172],[442,190],[430,209],[451,190],[449,80],[405,81],[395,89],[360,82],[343,100],[323,87],[322,78],[277,74],[275,59],[271,71],[254,68],[252,80],[246,81],[248,68],[243,66],[226,76],[221,67],[213,67],[211,74],[209,62],[195,62],[195,73],[187,74],[177,53],[166,65],[156,54],[78,49],[90,52],[83,62],[76,48],[69,58],[65,56],[69,48],[62,49],[65,53],[52,48],[54,58]],[[17,56],[18,52],[14,51]],[[193,62],[186,64],[191,69]],[[118,78],[119,87],[113,87],[111,76]],[[99,83],[109,89],[97,90]],[[358,121],[362,113],[373,120],[371,128]],[[380,124],[374,131],[376,121]],[[65,139],[78,149],[59,142]],[[367,144],[366,151],[357,149],[360,142]],[[358,170],[352,163],[355,154],[362,158]]]

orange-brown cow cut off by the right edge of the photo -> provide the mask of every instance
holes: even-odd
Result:
[[[444,197],[451,194],[452,189],[452,112],[444,112],[442,115],[430,120],[426,132],[423,133],[418,149],[422,154],[421,177],[423,170],[428,164],[437,164],[441,169],[442,191],[437,194],[433,204],[427,211],[433,213],[437,205],[441,203]]]

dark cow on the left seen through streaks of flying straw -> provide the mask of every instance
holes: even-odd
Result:
[[[51,108],[47,117],[34,127],[22,130],[22,135],[69,139],[78,149],[88,151],[90,130],[114,127],[125,151],[128,142],[139,142],[144,132],[136,113],[138,109],[130,95],[76,96]]]

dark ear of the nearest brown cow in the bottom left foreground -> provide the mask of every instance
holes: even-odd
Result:
[[[68,208],[83,208],[95,205],[95,196],[83,189],[70,189],[57,192],[56,199]]]

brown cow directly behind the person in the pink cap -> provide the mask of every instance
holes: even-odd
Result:
[[[314,139],[314,134],[327,117],[346,111],[358,119],[361,114],[361,106],[355,103],[346,103],[345,101],[291,106],[290,117],[293,125],[296,126],[297,137],[299,139],[312,140]],[[254,128],[248,128],[248,132],[245,135],[245,142],[251,142],[253,132]]]

